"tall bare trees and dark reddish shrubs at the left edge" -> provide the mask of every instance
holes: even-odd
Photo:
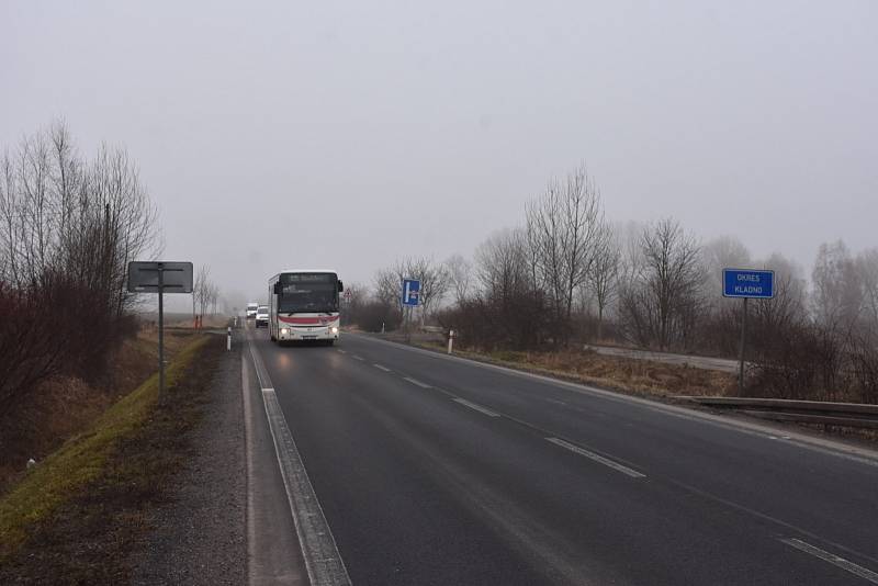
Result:
[[[123,148],[88,160],[65,124],[0,158],[0,404],[61,372],[100,373],[133,327],[130,260],[159,246],[157,213]]]

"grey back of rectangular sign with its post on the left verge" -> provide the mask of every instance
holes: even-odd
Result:
[[[158,293],[158,392],[165,393],[165,293],[192,293],[192,263],[128,262],[128,292]]]

